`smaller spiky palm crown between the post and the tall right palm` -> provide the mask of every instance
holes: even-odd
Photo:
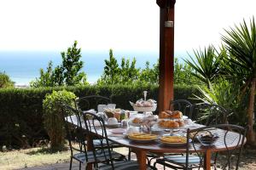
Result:
[[[211,45],[208,48],[204,48],[203,51],[201,49],[194,50],[194,54],[196,60],[189,54],[191,61],[189,59],[185,59],[184,61],[195,70],[191,74],[201,80],[201,82],[207,84],[207,87],[210,88],[211,82],[218,76],[219,71],[219,59],[216,50]]]

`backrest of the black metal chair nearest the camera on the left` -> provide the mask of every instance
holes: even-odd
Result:
[[[108,134],[106,131],[105,123],[102,117],[96,116],[96,114],[91,112],[83,113],[85,128],[87,130],[87,135],[90,135],[90,138],[96,138],[100,140],[100,147],[97,145],[92,147],[93,154],[97,160],[96,155],[104,156],[104,159],[101,159],[101,162],[111,162],[113,167],[113,159],[111,155],[111,146],[108,141]],[[100,161],[99,161],[100,162]]]

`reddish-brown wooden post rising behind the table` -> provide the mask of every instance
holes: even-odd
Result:
[[[158,107],[159,111],[166,111],[174,97],[174,5],[176,1],[157,0],[156,3],[160,6],[160,89]],[[165,26],[168,19],[173,21],[172,27]]]

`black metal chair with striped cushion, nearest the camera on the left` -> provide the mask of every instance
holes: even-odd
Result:
[[[130,170],[130,169],[139,169],[139,164],[137,161],[122,161],[122,162],[114,162],[113,161],[113,153],[111,153],[111,145],[108,141],[108,134],[106,131],[105,123],[102,117],[96,116],[90,112],[84,113],[84,122],[86,129],[88,130],[88,134],[91,137],[97,137],[101,140],[102,148],[96,150],[95,147],[92,147],[92,152],[96,156],[97,154],[102,154],[105,156],[105,159],[101,162],[107,162],[107,165],[97,166],[98,169],[101,170]],[[106,145],[102,143],[103,140],[106,140]],[[107,146],[107,147],[106,147]],[[95,157],[97,159],[97,157]]]

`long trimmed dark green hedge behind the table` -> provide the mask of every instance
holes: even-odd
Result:
[[[48,139],[43,126],[42,103],[45,94],[62,88],[2,88],[0,89],[0,149],[31,147],[40,140]],[[99,94],[109,96],[117,107],[131,110],[129,101],[143,97],[148,90],[148,98],[158,99],[157,86],[83,86],[65,87],[78,97]],[[198,94],[194,87],[176,86],[175,99],[188,99]]]

